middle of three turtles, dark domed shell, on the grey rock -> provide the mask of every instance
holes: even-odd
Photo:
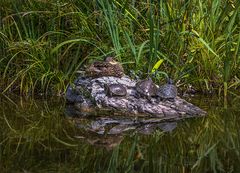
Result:
[[[136,90],[141,97],[150,100],[151,97],[156,96],[157,86],[151,78],[147,78],[136,83]]]

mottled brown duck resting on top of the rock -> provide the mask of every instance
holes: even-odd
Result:
[[[115,76],[122,77],[124,70],[122,65],[115,61],[113,57],[107,57],[105,61],[95,61],[86,69],[89,77]]]

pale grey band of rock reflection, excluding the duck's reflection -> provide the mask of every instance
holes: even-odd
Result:
[[[87,132],[95,132],[99,135],[117,135],[117,134],[152,134],[156,130],[163,132],[171,132],[177,127],[177,122],[157,122],[157,119],[135,120],[126,117],[113,118],[113,117],[97,117],[92,119],[78,119],[74,121],[78,128],[86,130]],[[152,120],[153,122],[149,122]],[[155,121],[154,121],[155,120]]]

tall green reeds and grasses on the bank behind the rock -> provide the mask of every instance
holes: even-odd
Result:
[[[164,60],[158,71],[182,87],[226,95],[240,86],[238,0],[0,3],[3,93],[60,94],[79,68],[108,55],[127,73]]]

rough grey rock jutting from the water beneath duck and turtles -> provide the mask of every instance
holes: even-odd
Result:
[[[106,84],[125,86],[127,96],[108,96],[104,90]],[[151,97],[150,101],[146,98],[139,98],[135,85],[136,81],[128,76],[121,78],[114,76],[78,77],[74,84],[67,88],[66,99],[70,104],[75,105],[74,107],[78,112],[89,107],[93,111],[105,109],[111,111],[114,115],[153,117],[163,120],[206,115],[205,111],[180,97],[176,97],[173,101],[158,101],[154,97]]]

